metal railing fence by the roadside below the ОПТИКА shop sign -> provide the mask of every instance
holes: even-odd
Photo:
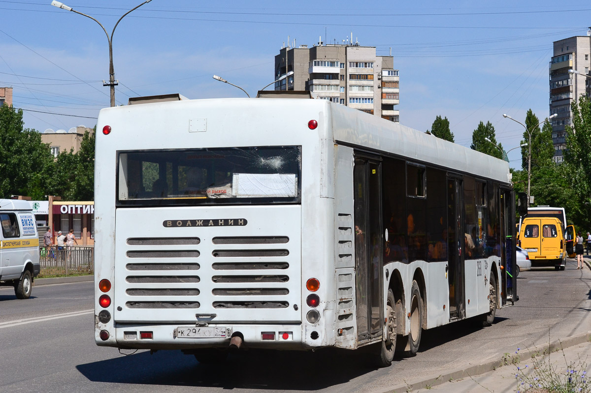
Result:
[[[42,276],[94,273],[94,247],[74,245],[66,246],[63,250],[57,248],[56,245],[51,248],[40,247],[39,263]]]

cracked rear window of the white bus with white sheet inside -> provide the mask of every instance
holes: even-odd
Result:
[[[300,201],[301,147],[119,152],[119,204]]]

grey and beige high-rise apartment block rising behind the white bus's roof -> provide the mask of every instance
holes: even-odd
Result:
[[[284,47],[275,56],[274,78],[275,90],[307,90],[315,99],[400,121],[394,109],[400,102],[394,57],[376,56],[375,47],[357,42]]]

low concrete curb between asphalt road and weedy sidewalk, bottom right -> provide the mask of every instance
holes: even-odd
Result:
[[[587,263],[587,265],[589,264]],[[569,348],[570,346],[579,345],[587,341],[591,341],[591,332],[570,336],[562,340],[554,340],[553,342],[550,342],[548,345],[544,345],[541,348],[520,349],[519,353],[515,354],[515,358],[513,356],[509,356],[508,359],[503,359],[501,355],[501,359],[495,359],[477,365],[470,365],[465,368],[459,368],[447,372],[446,374],[441,374],[439,376],[407,382],[392,388],[376,390],[373,393],[406,393],[417,389],[429,389],[455,379],[470,378],[470,376],[476,376],[484,374],[485,372],[496,370],[499,367],[512,364],[514,359],[517,360],[517,358],[521,362],[531,359],[532,356],[546,355],[547,353]]]

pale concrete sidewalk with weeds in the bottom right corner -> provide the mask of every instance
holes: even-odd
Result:
[[[568,378],[567,375],[574,375],[575,377],[579,376],[579,381],[583,381],[581,376],[586,376],[583,375],[583,371],[591,372],[591,342],[589,342],[589,339],[590,335],[587,334],[586,342],[569,346],[563,350],[557,348],[554,352],[550,352],[550,356],[538,355],[537,357],[532,358],[531,356],[535,355],[535,352],[529,353],[529,356],[524,356],[525,353],[519,351],[519,358],[521,358],[519,362],[511,363],[513,359],[509,359],[508,365],[498,367],[485,374],[477,376],[465,374],[459,379],[450,378],[443,384],[433,387],[431,387],[431,385],[423,385],[422,387],[413,386],[412,391],[438,393],[502,393],[517,392],[519,390],[523,392],[525,388],[530,387],[530,382],[540,382],[540,384],[543,384],[544,379],[548,379],[547,377],[544,378],[544,376],[542,376],[544,371],[548,369],[548,357],[550,358],[550,365],[555,369],[553,374],[557,375],[561,381],[566,381]],[[548,347],[546,346],[546,348],[538,348],[534,351],[539,351],[543,354],[547,349]],[[515,353],[512,353],[511,355],[517,357],[517,354]],[[538,368],[535,369],[534,365],[537,365]],[[518,370],[518,367],[521,371]],[[573,369],[573,373],[569,372],[571,369]],[[534,378],[540,378],[540,380],[533,381]],[[433,385],[436,383],[437,382],[434,382]],[[576,391],[578,390],[577,387]],[[544,390],[544,392],[546,391]]]

